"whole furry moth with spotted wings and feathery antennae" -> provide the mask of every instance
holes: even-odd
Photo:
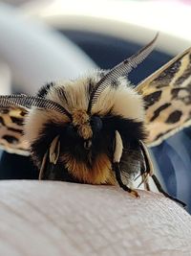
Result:
[[[154,49],[157,36],[109,71],[50,82],[36,96],[0,96],[0,144],[31,154],[39,179],[131,188],[154,174],[147,147],[191,125],[191,49],[133,87],[126,76]]]

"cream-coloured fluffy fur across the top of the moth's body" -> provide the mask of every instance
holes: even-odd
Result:
[[[51,87],[47,98],[64,106],[72,114],[75,110],[87,110],[89,103],[89,83],[91,82],[94,86],[99,80],[99,72],[96,71],[92,76],[79,78],[76,81],[57,82]],[[100,94],[96,104],[93,105],[92,114],[104,116],[112,110],[112,113],[121,115],[124,118],[143,121],[144,110],[141,97],[124,78],[119,78],[118,82],[119,86],[117,89],[109,87]],[[64,89],[67,102],[63,97],[60,97],[57,93],[57,89]],[[26,118],[26,139],[32,143],[32,141],[39,136],[39,132],[43,128],[43,125],[49,120],[58,124],[70,121],[68,117],[56,111],[38,110],[33,108]]]

